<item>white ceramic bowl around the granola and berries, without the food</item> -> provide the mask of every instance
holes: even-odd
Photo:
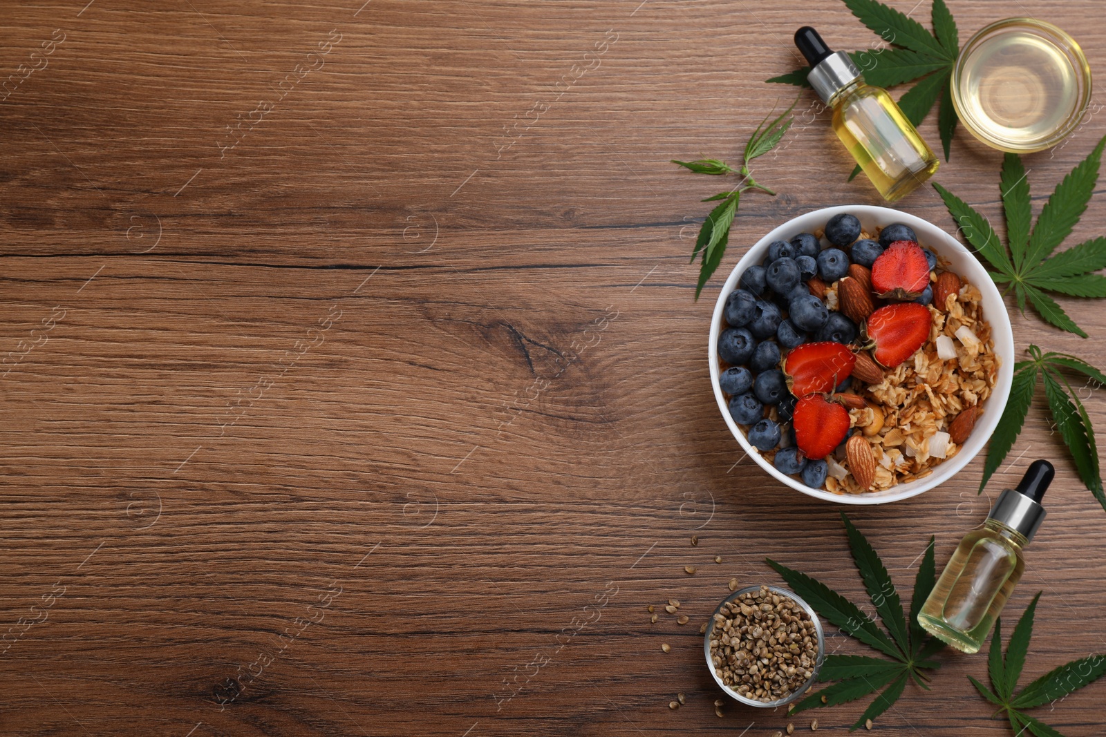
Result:
[[[971,436],[960,449],[960,452],[952,459],[936,466],[933,472],[925,478],[911,481],[905,484],[898,484],[885,492],[873,492],[870,494],[833,494],[824,488],[811,488],[810,486],[803,484],[800,480],[784,475],[776,471],[771,463],[764,460],[760,451],[753,448],[749,441],[745,440],[745,435],[741,431],[741,428],[739,428],[733,421],[733,418],[730,417],[730,410],[727,407],[726,396],[722,393],[722,388],[718,385],[718,336],[721,334],[726,324],[722,313],[726,307],[726,298],[731,292],[738,288],[738,280],[740,278],[742,272],[744,272],[744,270],[749,266],[760,264],[768,253],[769,244],[773,241],[790,241],[799,233],[812,233],[820,228],[824,228],[826,221],[838,212],[849,212],[856,215],[860,220],[860,224],[864,227],[864,230],[869,233],[875,232],[876,227],[879,225],[889,225],[894,222],[905,223],[914,229],[914,232],[917,233],[918,240],[924,246],[931,249],[941,257],[948,260],[952,271],[966,277],[970,283],[974,284],[979,288],[980,293],[982,293],[983,317],[991,324],[991,337],[994,340],[994,352],[1002,361],[999,367],[999,379],[994,385],[994,390],[983,403],[982,419],[975,425],[974,430],[972,430]],[[733,267],[733,271],[730,273],[730,277],[726,280],[726,284],[722,286],[721,294],[718,296],[718,304],[714,305],[714,316],[710,324],[709,355],[710,383],[714,388],[714,399],[718,400],[718,409],[721,410],[726,424],[730,428],[730,432],[733,433],[733,436],[738,439],[738,443],[741,444],[741,448],[743,448],[745,452],[751,455],[762,468],[764,468],[765,472],[779,480],[781,483],[799,489],[808,496],[813,496],[818,499],[826,499],[827,502],[837,502],[839,504],[886,504],[888,502],[908,499],[911,496],[917,496],[918,494],[929,491],[935,486],[939,486],[940,484],[943,484],[952,478],[961,468],[968,465],[973,457],[975,457],[977,453],[983,450],[984,445],[987,445],[987,441],[990,440],[991,433],[994,432],[994,428],[999,424],[999,418],[1002,417],[1002,410],[1005,408],[1006,399],[1010,397],[1010,385],[1014,377],[1014,336],[1010,328],[1010,317],[1006,314],[1006,306],[1002,302],[1002,295],[999,294],[999,289],[994,286],[994,282],[991,281],[991,277],[987,275],[987,270],[983,265],[968,251],[968,249],[961,245],[959,241],[937,225],[933,225],[921,218],[916,218],[911,214],[907,214],[906,212],[900,212],[899,210],[877,208],[866,204],[823,208],[822,210],[815,210],[814,212],[807,212],[806,214],[799,215],[797,218],[789,220],[772,232],[768,233],[751,249],[749,249],[749,252],[745,253],[745,255],[741,257],[741,261],[738,262],[738,265]]]

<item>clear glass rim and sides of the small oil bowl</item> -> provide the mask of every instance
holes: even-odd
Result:
[[[1075,105],[1072,106],[1072,110],[1066,118],[1039,136],[1019,137],[1016,140],[1002,137],[993,130],[988,130],[985,124],[977,119],[966,99],[970,73],[973,62],[977,61],[974,60],[974,54],[985,45],[1012,32],[1035,35],[1041,42],[1060,51],[1071,67],[1067,71],[1072,74],[1076,86]],[[1091,103],[1091,65],[1087,64],[1087,57],[1084,56],[1083,50],[1076,43],[1075,39],[1052,23],[1039,21],[1033,18],[1008,18],[980,29],[963,45],[952,67],[951,93],[952,106],[956,108],[957,117],[960,118],[960,122],[963,123],[971,135],[1000,151],[1030,154],[1055,146],[1079,125],[1087,110],[1087,105]]]

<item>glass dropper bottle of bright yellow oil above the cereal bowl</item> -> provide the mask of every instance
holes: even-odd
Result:
[[[883,87],[864,82],[844,51],[831,51],[810,25],[795,45],[811,71],[806,81],[833,108],[833,129],[884,199],[894,202],[929,179],[939,161]]]

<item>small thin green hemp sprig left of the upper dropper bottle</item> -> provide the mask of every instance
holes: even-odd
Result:
[[[795,103],[799,101],[796,99]],[[702,228],[699,230],[699,238],[696,239],[695,250],[691,251],[692,263],[695,263],[696,256],[702,254],[702,265],[699,269],[699,282],[696,285],[695,291],[696,299],[699,298],[702,287],[706,286],[707,281],[722,262],[722,254],[726,253],[726,246],[730,240],[730,225],[733,223],[733,218],[738,214],[738,204],[741,201],[741,193],[750,189],[759,189],[763,192],[772,194],[773,197],[775,196],[774,191],[758,183],[757,180],[753,179],[749,165],[753,159],[764,156],[780,144],[784,134],[786,134],[787,129],[791,127],[793,118],[790,116],[791,110],[795,108],[795,103],[792,103],[791,107],[785,109],[778,117],[773,118],[771,123],[769,122],[768,116],[761,120],[761,124],[757,126],[757,130],[753,131],[749,143],[745,144],[741,169],[733,169],[724,161],[719,161],[718,159],[699,159],[697,161],[677,161],[676,159],[672,159],[672,164],[677,164],[696,173],[705,173],[716,177],[738,175],[741,177],[741,180],[733,189],[726,192],[719,192],[718,194],[702,200],[703,202],[717,202],[721,200],[721,204],[717,206],[710,211],[710,214],[707,215],[707,220],[702,223]],[[773,108],[772,113],[774,112],[775,109]],[[772,113],[769,113],[768,115],[771,116]]]

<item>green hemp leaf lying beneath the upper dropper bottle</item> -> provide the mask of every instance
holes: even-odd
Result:
[[[915,126],[940,101],[937,127],[941,134],[945,160],[949,160],[952,134],[957,129],[957,114],[952,107],[952,65],[960,53],[957,22],[945,0],[933,0],[931,18],[935,33],[908,15],[877,0],[843,0],[852,13],[874,33],[891,45],[890,49],[851,51],[853,63],[864,74],[864,80],[877,87],[894,87],[918,81],[898,101],[899,107]],[[804,66],[768,82],[808,87]],[[860,168],[849,175],[852,180]]]

